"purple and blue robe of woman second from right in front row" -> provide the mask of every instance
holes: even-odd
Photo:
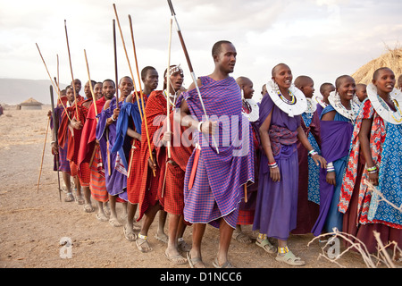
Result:
[[[333,107],[328,105],[322,111],[322,115],[332,110],[334,110]],[[337,206],[353,133],[353,125],[347,118],[338,113],[333,121],[321,121],[320,124],[322,156],[328,163],[332,162],[334,165],[336,186],[327,183],[327,171],[321,169],[320,214],[312,229],[315,236],[320,235],[322,230],[332,231],[332,227],[337,227],[339,231],[342,231],[342,215],[339,213]],[[329,223],[329,220],[332,223]]]

